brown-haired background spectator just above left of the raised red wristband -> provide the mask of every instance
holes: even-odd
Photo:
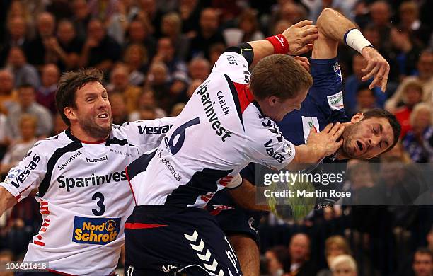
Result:
[[[241,42],[265,39],[265,35],[259,30],[257,11],[248,8],[238,17],[238,28],[226,28],[223,35],[227,47],[236,46]]]

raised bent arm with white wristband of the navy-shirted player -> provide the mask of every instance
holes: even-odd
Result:
[[[369,88],[380,86],[386,90],[388,82],[389,64],[364,38],[356,25],[341,13],[332,8],[325,8],[317,19],[318,40],[314,43],[313,59],[330,59],[336,57],[338,42],[343,42],[357,50],[367,60],[366,68],[362,69],[365,75],[362,81],[374,77]]]

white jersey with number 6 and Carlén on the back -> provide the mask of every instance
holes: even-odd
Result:
[[[241,54],[221,54],[158,149],[127,167],[137,205],[204,207],[218,190],[239,185],[248,163],[291,162],[294,145],[253,101],[249,77]]]

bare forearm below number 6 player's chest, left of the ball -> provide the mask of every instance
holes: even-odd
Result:
[[[250,209],[255,211],[269,211],[267,205],[255,205],[255,185],[251,184],[245,178],[242,179],[240,187],[229,190],[233,200],[244,209]]]

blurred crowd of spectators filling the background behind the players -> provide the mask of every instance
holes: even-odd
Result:
[[[37,139],[67,127],[54,103],[62,72],[103,70],[115,124],[175,116],[226,47],[282,33],[305,18],[315,21],[327,7],[357,23],[391,65],[386,93],[370,90],[361,81],[363,57],[339,47],[347,115],[386,108],[402,125],[400,142],[381,156],[380,168],[349,162],[345,189],[361,195],[363,189],[377,189],[387,205],[404,204],[393,201],[404,172],[433,161],[433,1],[428,0],[1,1],[1,177]],[[37,213],[29,197],[0,218],[0,250],[7,250],[0,260],[25,252],[40,226]],[[290,271],[308,261],[314,270],[296,275],[432,275],[432,221],[428,206],[330,207],[291,225],[280,225],[271,215],[261,229],[263,269],[293,275]]]

